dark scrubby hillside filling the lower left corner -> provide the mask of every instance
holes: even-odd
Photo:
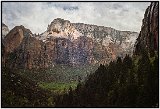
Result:
[[[55,95],[14,70],[2,68],[2,107],[50,107]]]

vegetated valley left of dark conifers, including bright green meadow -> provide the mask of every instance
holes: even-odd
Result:
[[[55,66],[54,69],[2,67],[2,107],[54,107],[57,95],[75,89],[93,66]]]

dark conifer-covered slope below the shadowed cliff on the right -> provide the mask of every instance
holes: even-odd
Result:
[[[147,54],[100,65],[75,90],[58,96],[56,107],[158,107],[158,55]]]

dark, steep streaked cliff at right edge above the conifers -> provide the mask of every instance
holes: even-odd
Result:
[[[141,31],[135,44],[136,54],[141,53],[145,49],[148,51],[158,51],[158,5],[158,2],[152,2],[145,12]]]

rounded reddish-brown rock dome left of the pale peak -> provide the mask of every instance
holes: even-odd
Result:
[[[3,58],[5,61],[5,65],[9,64],[8,66],[11,67],[16,67],[17,65],[18,67],[25,67],[24,65],[28,60],[28,49],[32,50],[31,47],[28,48],[28,46],[36,44],[33,41],[30,41],[30,38],[33,38],[32,32],[26,29],[24,26],[16,26],[6,35],[3,40]]]

